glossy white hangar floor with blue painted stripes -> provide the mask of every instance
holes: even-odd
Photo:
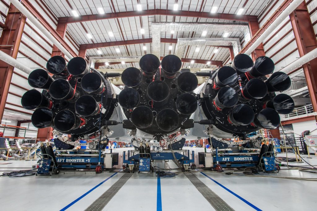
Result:
[[[123,150],[116,149],[122,154]],[[130,148],[131,149],[131,148]],[[189,148],[191,149],[191,148]],[[203,148],[193,148],[195,152]],[[285,157],[285,154],[278,156]],[[288,153],[289,157],[294,154]],[[307,157],[307,156],[304,156]],[[306,159],[317,165],[317,157]],[[121,158],[122,162],[122,158]],[[26,169],[36,161],[0,161],[0,173]],[[163,163],[156,163],[164,168]],[[290,163],[294,165],[294,163]],[[171,168],[176,165],[169,161]],[[296,163],[307,166],[307,163]],[[85,210],[94,204],[118,180],[126,175],[115,172],[60,173],[52,176],[0,177],[0,201],[3,210]],[[201,170],[201,169],[198,169]],[[192,170],[193,171],[193,170]],[[186,173],[198,179],[196,187],[185,174],[158,179],[151,173],[133,173],[102,210],[215,210],[197,189],[199,183],[220,197],[231,209],[222,210],[315,210],[316,181],[290,180],[281,177],[317,178],[316,174],[282,167],[280,178],[225,175],[213,172]],[[117,182],[117,183],[116,183]],[[198,182],[198,183],[197,183]],[[116,185],[114,185],[116,183]],[[114,185],[114,186],[113,186]],[[115,187],[116,188],[116,187]],[[209,192],[210,193],[210,192]],[[101,209],[99,209],[101,210]],[[217,209],[221,210],[221,209]]]

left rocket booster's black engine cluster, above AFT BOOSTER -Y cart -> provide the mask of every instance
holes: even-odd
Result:
[[[115,105],[113,90],[101,72],[89,68],[81,57],[66,64],[63,57],[54,56],[46,68],[29,74],[29,85],[36,89],[21,99],[23,108],[35,109],[31,117],[35,127],[53,127],[77,138],[98,131],[99,122],[102,126],[110,119]]]

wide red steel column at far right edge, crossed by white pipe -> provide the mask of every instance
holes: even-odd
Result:
[[[317,48],[317,40],[313,24],[307,10],[306,2],[303,1],[289,15],[289,17],[291,20],[298,52],[302,57]],[[317,59],[313,59],[304,64],[303,69],[313,109],[314,112],[317,112]],[[317,116],[315,116],[315,119],[317,121]]]

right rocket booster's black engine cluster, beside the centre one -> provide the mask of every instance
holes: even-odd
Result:
[[[279,114],[292,112],[294,101],[287,94],[275,95],[287,90],[291,81],[287,74],[273,71],[274,62],[266,56],[253,63],[248,55],[238,54],[231,66],[208,73],[200,93],[204,115],[218,130],[234,137],[277,128]],[[268,74],[272,75],[267,78]],[[206,76],[206,72],[197,75]]]

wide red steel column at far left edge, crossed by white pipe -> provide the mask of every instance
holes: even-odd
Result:
[[[10,4],[4,29],[0,38],[0,50],[16,59],[26,17]],[[3,117],[14,67],[0,61],[0,121]]]

